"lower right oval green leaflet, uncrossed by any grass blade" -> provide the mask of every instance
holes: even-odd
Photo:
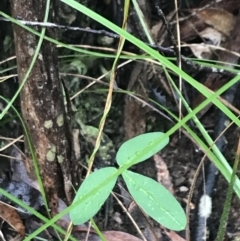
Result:
[[[149,216],[171,230],[179,231],[185,228],[185,212],[165,187],[131,171],[125,171],[122,175],[135,202]]]

